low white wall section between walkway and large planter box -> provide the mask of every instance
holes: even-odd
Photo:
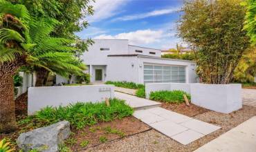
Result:
[[[185,83],[149,83],[145,84],[146,98],[149,99],[149,95],[154,91],[185,91],[190,93],[190,84]]]

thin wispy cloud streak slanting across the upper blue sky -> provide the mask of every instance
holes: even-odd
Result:
[[[156,17],[159,15],[167,15],[171,14],[173,12],[177,12],[180,10],[180,8],[168,8],[168,9],[162,9],[162,10],[154,10],[152,12],[145,12],[142,14],[136,14],[136,15],[127,15],[124,17],[118,17],[116,19],[112,19],[112,21],[130,21],[130,20],[136,20],[136,19],[144,19],[147,17]]]

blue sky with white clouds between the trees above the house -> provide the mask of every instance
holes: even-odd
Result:
[[[129,39],[129,44],[151,48],[175,48],[183,0],[95,0],[94,15],[82,39]]]

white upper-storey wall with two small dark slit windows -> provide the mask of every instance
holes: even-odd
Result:
[[[140,46],[128,46],[129,54],[136,54],[136,55],[149,55],[152,57],[161,57],[161,50],[154,49],[154,48],[144,48]],[[142,50],[143,53],[136,53],[136,50]],[[155,55],[149,54],[149,52],[156,53]]]

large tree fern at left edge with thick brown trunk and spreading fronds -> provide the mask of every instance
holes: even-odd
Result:
[[[21,66],[82,73],[84,65],[68,46],[72,41],[48,36],[56,24],[30,17],[23,5],[0,0],[0,133],[16,129],[13,75]]]

